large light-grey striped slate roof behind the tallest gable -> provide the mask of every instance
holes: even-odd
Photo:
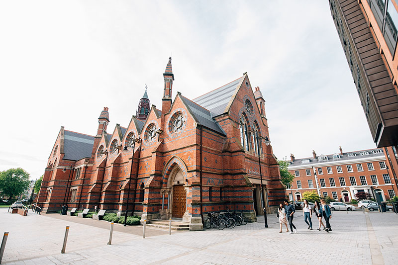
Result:
[[[231,83],[205,93],[192,101],[211,111],[213,117],[221,115],[226,112],[226,106],[235,94],[236,88],[244,78],[245,76],[242,76]]]

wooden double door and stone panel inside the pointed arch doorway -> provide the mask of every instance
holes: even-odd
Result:
[[[183,218],[187,210],[187,192],[184,186],[184,175],[180,168],[176,167],[170,174],[168,186],[172,188],[171,216]]]

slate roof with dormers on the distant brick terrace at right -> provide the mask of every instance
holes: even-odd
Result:
[[[375,153],[376,150],[381,150],[381,153]],[[368,154],[366,154],[366,152]],[[379,151],[380,152],[380,151]],[[364,154],[365,153],[365,154]],[[333,155],[339,155],[340,158],[333,158]],[[385,156],[383,148],[377,148],[377,149],[369,149],[369,150],[363,150],[363,151],[355,151],[355,152],[348,152],[348,153],[343,153],[341,155],[340,153],[336,153],[333,155],[320,155],[317,156],[316,159],[314,158],[300,158],[300,159],[295,159],[294,162],[290,162],[289,167],[296,167],[296,166],[305,166],[305,165],[311,165],[311,164],[321,164],[321,163],[330,163],[330,162],[345,162],[349,160],[354,160],[354,159],[367,159],[367,158],[373,158],[373,157],[380,157],[380,156]],[[322,160],[319,158],[327,157],[327,160]]]

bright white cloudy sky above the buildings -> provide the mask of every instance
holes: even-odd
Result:
[[[44,173],[61,126],[127,126],[148,85],[195,98],[248,72],[278,159],[375,148],[328,1],[0,1],[0,170]]]

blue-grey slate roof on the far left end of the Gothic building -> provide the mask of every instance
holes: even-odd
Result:
[[[94,136],[64,131],[64,159],[77,161],[82,158],[90,158],[93,145]]]

